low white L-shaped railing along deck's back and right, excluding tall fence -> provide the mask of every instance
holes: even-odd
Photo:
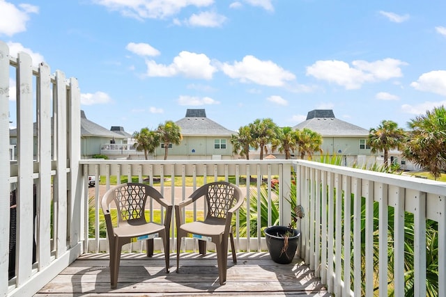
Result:
[[[304,209],[304,218],[298,221],[301,231],[298,257],[316,271],[328,291],[336,296],[374,296],[376,287],[380,296],[387,296],[394,290],[394,296],[404,296],[404,216],[414,214],[415,244],[413,246],[415,269],[415,296],[426,296],[426,249],[438,249],[438,293],[446,296],[446,184],[427,179],[417,179],[407,175],[394,175],[332,166],[324,163],[303,160],[272,161],[95,161],[82,160],[84,174],[101,175],[107,181],[110,176],[180,177],[179,184],[164,186],[160,191],[167,192],[171,202],[183,200],[187,195],[185,177],[213,177],[228,180],[235,177],[245,193],[259,193],[262,186],[267,188],[268,200],[274,198],[270,188],[272,177],[279,177],[280,224],[291,221],[291,208],[288,202],[291,191],[291,168],[297,172],[295,199]],[[263,176],[256,179],[256,185],[249,181],[239,184],[240,177]],[[118,179],[119,180],[119,179]],[[148,179],[153,184],[153,179]],[[110,186],[106,182],[107,188]],[[199,184],[194,182],[193,188]],[[95,203],[100,195],[96,188]],[[249,195],[245,207],[249,205]],[[258,199],[259,201],[260,199]],[[378,214],[374,214],[374,207]],[[258,205],[258,209],[260,205]],[[390,211],[392,208],[392,211]],[[249,209],[247,207],[247,209]],[[194,209],[196,210],[196,209]],[[257,211],[260,214],[260,211]],[[390,216],[392,214],[392,216]],[[378,218],[376,218],[378,215]],[[269,214],[270,216],[270,214]],[[247,216],[249,217],[249,216]],[[247,238],[237,236],[238,251],[266,250],[261,234],[260,218],[256,234]],[[379,223],[374,225],[374,220]],[[388,225],[388,221],[394,225]],[[426,246],[426,220],[438,222],[438,246]],[[271,222],[271,218],[268,218]],[[238,222],[241,223],[241,222]],[[249,230],[249,222],[247,230]],[[95,222],[98,227],[99,221]],[[394,232],[394,242],[389,242],[387,232]],[[237,232],[236,232],[237,233]],[[172,241],[175,239],[172,237]],[[90,239],[95,243],[84,246],[86,250],[98,252],[106,250],[106,239]],[[103,246],[98,244],[102,242]],[[171,245],[174,246],[174,245]],[[143,246],[129,250],[142,250]],[[187,250],[192,250],[192,239]],[[158,243],[158,249],[161,244]],[[378,252],[377,252],[378,250]],[[389,255],[394,257],[389,262]],[[378,261],[374,262],[374,258]],[[394,266],[390,267],[390,263]],[[378,266],[378,269],[377,267]],[[393,278],[388,271],[393,271]]]

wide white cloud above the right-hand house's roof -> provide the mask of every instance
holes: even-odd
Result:
[[[366,82],[402,77],[401,65],[407,63],[392,58],[374,62],[353,61],[353,67],[344,61],[316,61],[307,67],[307,75],[353,90]]]

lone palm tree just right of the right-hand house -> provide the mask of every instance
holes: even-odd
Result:
[[[384,167],[388,166],[389,150],[401,150],[403,139],[406,138],[406,132],[398,127],[396,122],[383,120],[376,129],[369,130],[369,145],[371,152],[384,152]]]

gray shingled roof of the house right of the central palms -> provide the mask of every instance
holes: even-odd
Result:
[[[334,118],[334,113],[331,109],[309,111],[307,120],[295,125],[293,128],[308,128],[321,134],[321,136],[369,136],[369,130]]]

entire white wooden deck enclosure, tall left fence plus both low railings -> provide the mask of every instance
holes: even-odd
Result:
[[[302,205],[305,214],[298,221],[302,236],[297,256],[320,275],[330,292],[336,296],[373,296],[378,282],[380,296],[387,296],[388,287],[395,290],[394,296],[403,296],[404,217],[413,214],[415,296],[426,296],[428,220],[438,222],[438,246],[433,247],[438,249],[438,296],[446,296],[445,183],[300,160],[81,160],[77,80],[66,79],[60,71],[50,74],[45,63],[33,67],[29,55],[21,53],[14,58],[8,50],[0,41],[0,135],[3,140],[9,136],[8,112],[10,105],[15,104],[17,160],[10,161],[9,144],[0,142],[0,296],[32,296],[83,252],[107,250],[107,239],[100,238],[98,232],[100,186],[95,187],[91,198],[88,175],[96,175],[96,180],[99,176],[104,178],[105,188],[112,186],[110,179],[114,176],[137,177],[139,181],[148,177],[149,184],[159,177],[160,191],[172,201],[187,195],[186,177],[193,177],[192,188],[200,186],[199,177],[231,178],[249,193],[258,192],[262,186],[261,179],[251,185],[249,177],[263,176],[268,199],[274,197],[270,179],[278,177],[280,223],[287,225],[291,220],[286,200],[291,193],[291,168],[297,173],[298,188],[293,199]],[[13,86],[10,86],[11,72],[15,72],[12,76],[16,78]],[[15,102],[9,100],[10,88],[17,88]],[[37,135],[33,135],[33,122],[37,122]],[[37,152],[32,150],[34,137],[38,139]],[[168,185],[164,177],[179,177],[181,182]],[[241,182],[243,177],[248,179],[245,185]],[[10,252],[5,243],[12,232],[8,198],[13,190],[17,194],[16,256],[15,273],[8,280]],[[34,197],[36,218],[33,218]],[[374,207],[378,208],[377,227]],[[91,238],[90,209],[95,212]],[[365,209],[363,217],[362,209]],[[387,234],[390,218],[394,221],[393,242]],[[257,220],[260,222],[260,218]],[[259,225],[256,234],[245,239],[237,235],[238,250],[264,250],[260,229]],[[378,255],[374,254],[376,250]],[[393,267],[387,261],[390,252],[394,257]],[[394,280],[389,279],[388,271],[393,271]]]

